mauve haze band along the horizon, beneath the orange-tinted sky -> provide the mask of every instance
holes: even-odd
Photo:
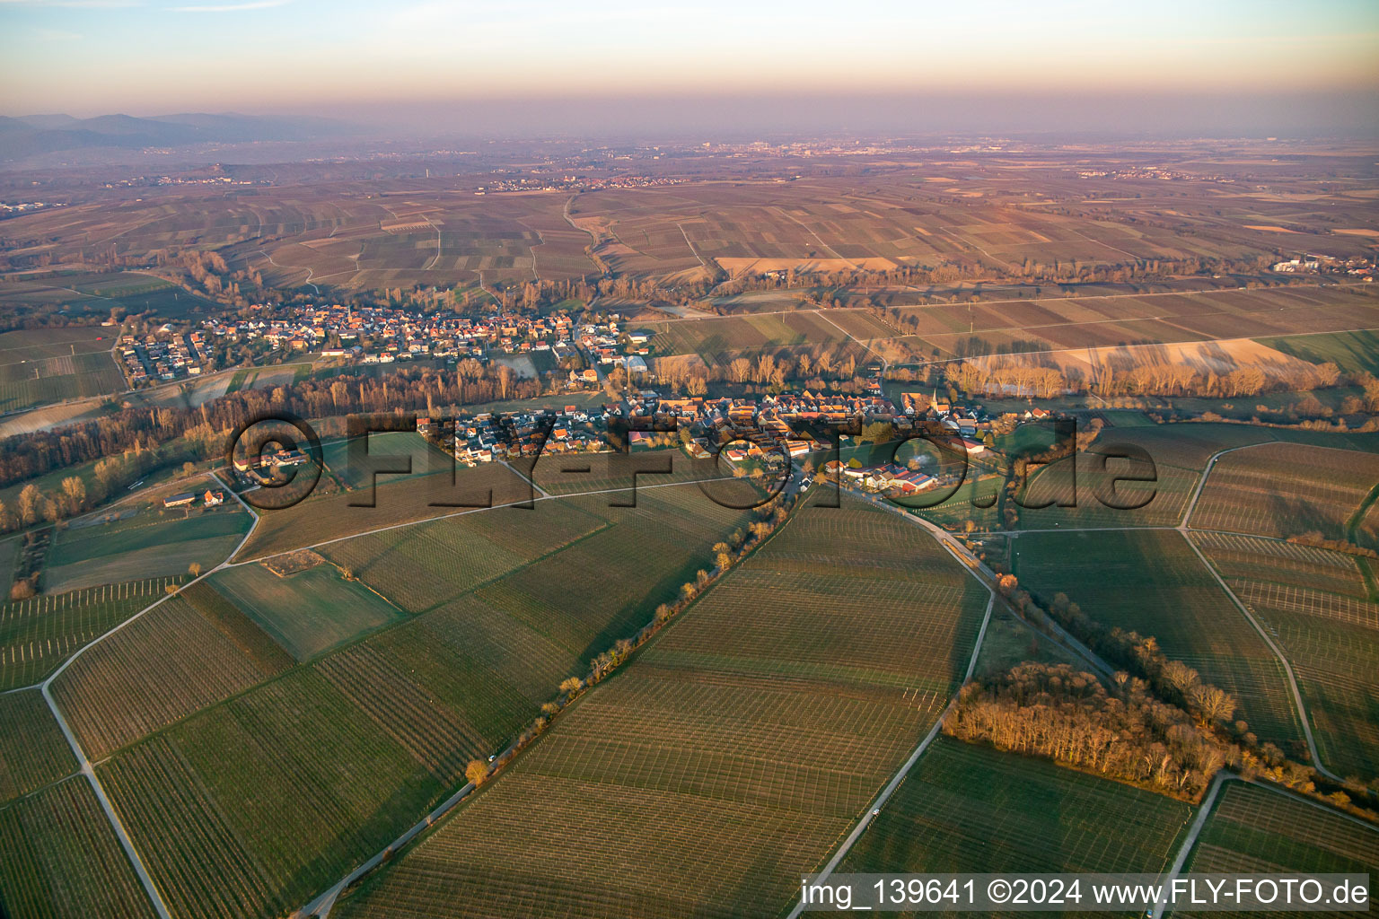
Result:
[[[1379,96],[1368,92],[1294,95],[1160,94],[976,95],[829,94],[720,96],[505,98],[451,102],[399,101],[383,106],[130,106],[21,110],[11,118],[127,116],[168,118],[211,114],[251,118],[321,118],[342,136],[535,139],[741,141],[768,136],[854,135],[866,139],[990,136],[1023,141],[1138,139],[1354,139],[1379,136]]]

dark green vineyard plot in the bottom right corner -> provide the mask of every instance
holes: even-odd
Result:
[[[1379,874],[1379,831],[1285,792],[1230,781],[1222,788],[1186,869],[1373,876]]]

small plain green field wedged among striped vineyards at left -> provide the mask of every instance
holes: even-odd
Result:
[[[374,591],[341,577],[334,565],[287,577],[262,565],[240,565],[217,572],[210,583],[296,660],[316,657],[401,616]]]

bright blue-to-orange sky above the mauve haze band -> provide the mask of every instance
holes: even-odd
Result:
[[[6,114],[1376,88],[1375,0],[0,0]]]

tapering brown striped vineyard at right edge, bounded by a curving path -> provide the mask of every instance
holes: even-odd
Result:
[[[1254,536],[1193,533],[1292,664],[1324,765],[1379,774],[1379,603],[1369,559]]]

